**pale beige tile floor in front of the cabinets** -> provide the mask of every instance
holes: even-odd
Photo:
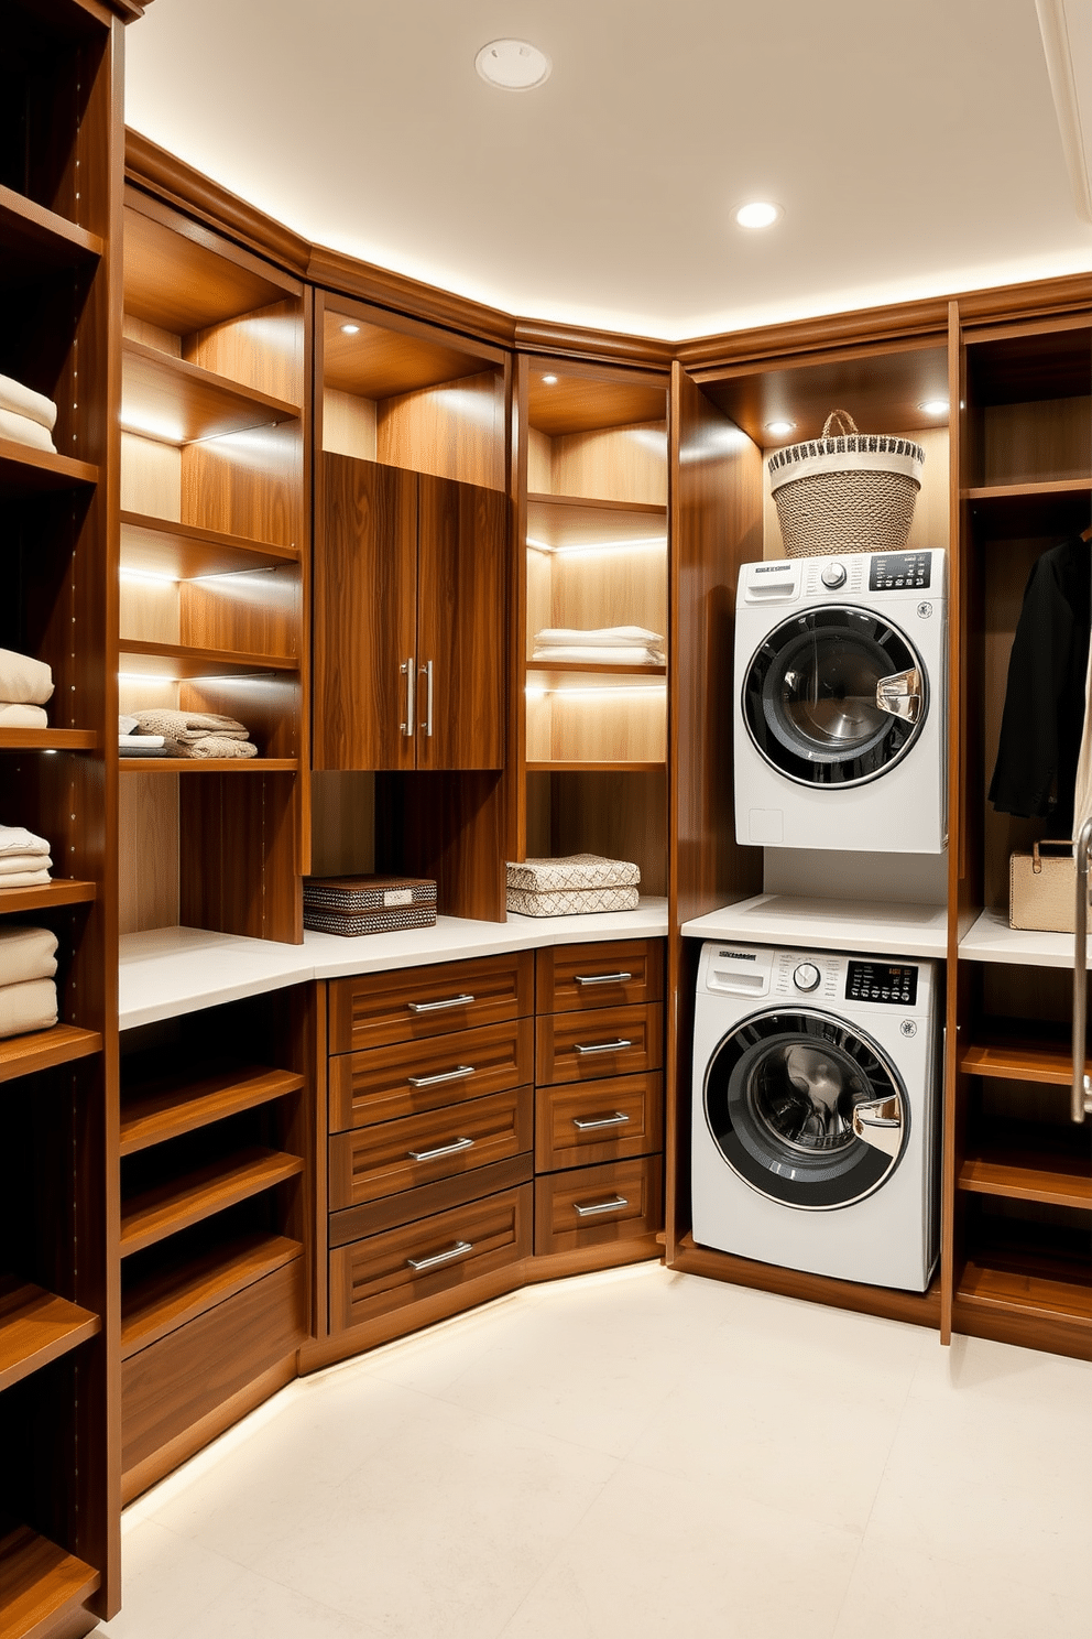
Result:
[[[111,1639],[1092,1639],[1092,1367],[655,1264],[262,1406]]]

